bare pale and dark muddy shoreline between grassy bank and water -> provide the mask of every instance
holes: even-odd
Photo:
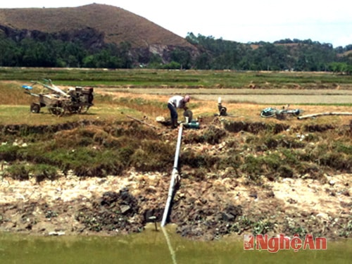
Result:
[[[202,182],[184,179],[168,222],[189,239],[244,233],[351,237],[351,197],[346,191],[351,176],[334,175],[326,184],[282,179],[265,187],[249,187],[229,177]],[[39,184],[4,178],[0,231],[44,236],[143,232],[146,223],[153,222],[152,216],[161,221],[169,180],[158,172],[135,171],[105,179],[70,175]]]

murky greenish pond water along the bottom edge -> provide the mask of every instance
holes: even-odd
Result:
[[[327,250],[244,251],[243,241],[194,241],[173,227],[116,237],[33,237],[0,233],[0,263],[351,263],[351,240],[327,241]]]

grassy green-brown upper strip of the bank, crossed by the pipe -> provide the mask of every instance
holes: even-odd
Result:
[[[184,177],[246,177],[260,184],[263,177],[323,181],[324,173],[352,170],[351,137],[341,128],[309,132],[305,137],[273,133],[266,127],[255,131],[226,132],[215,125],[201,133],[189,130],[180,153],[181,170],[191,169]],[[12,132],[20,135],[20,141],[12,134],[2,134],[6,142],[0,145],[0,161],[8,164],[6,175],[18,180],[52,180],[69,170],[82,177],[121,175],[130,168],[168,172],[174,161],[176,142],[139,122],[70,124],[54,130],[42,126],[40,137],[35,136],[38,127],[17,126]]]

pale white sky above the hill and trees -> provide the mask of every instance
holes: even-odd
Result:
[[[117,6],[186,37],[189,32],[234,42],[311,39],[336,48],[352,44],[351,0],[11,0],[0,8]]]

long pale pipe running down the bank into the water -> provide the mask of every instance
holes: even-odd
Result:
[[[178,137],[177,137],[177,145],[176,145],[176,151],[175,151],[175,161],[174,161],[174,166],[172,168],[172,173],[171,173],[171,181],[170,181],[170,187],[169,187],[169,193],[168,193],[168,200],[166,201],[166,206],[164,209],[164,214],[163,214],[163,220],[161,220],[161,227],[163,227],[166,223],[166,220],[168,218],[168,213],[169,213],[169,208],[170,208],[170,203],[172,201],[172,196],[175,191],[175,183],[177,180],[178,170],[178,158],[180,156],[180,148],[181,148],[181,142],[182,142],[182,130],[183,130],[183,125],[180,125],[180,128],[178,130]]]

